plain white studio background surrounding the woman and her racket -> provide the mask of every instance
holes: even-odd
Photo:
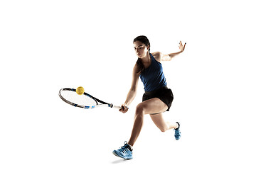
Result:
[[[255,14],[253,1],[1,1],[0,169],[255,169]],[[187,42],[163,63],[164,116],[182,137],[146,115],[123,161],[112,150],[129,140],[142,83],[126,114],[68,106],[58,91],[122,104],[138,35],[151,52]]]

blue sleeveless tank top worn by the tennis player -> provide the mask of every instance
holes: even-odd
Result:
[[[151,64],[144,69],[139,77],[144,84],[145,91],[154,91],[167,84],[161,63],[157,62],[151,53],[149,53],[149,55],[151,57]]]

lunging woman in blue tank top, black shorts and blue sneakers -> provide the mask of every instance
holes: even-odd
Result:
[[[174,129],[174,137],[179,140],[181,137],[180,123],[171,124],[166,122],[162,113],[169,111],[171,103],[174,99],[171,89],[167,88],[166,79],[164,77],[161,61],[170,61],[173,57],[183,52],[185,45],[179,42],[180,52],[164,55],[161,52],[150,53],[150,43],[146,36],[142,35],[134,39],[134,50],[138,57],[137,63],[132,72],[132,86],[127,94],[126,101],[119,110],[122,113],[128,111],[130,103],[134,100],[137,93],[139,77],[144,84],[145,93],[142,98],[142,103],[139,103],[134,117],[134,125],[132,135],[129,142],[124,142],[124,146],[114,150],[113,154],[124,159],[132,159],[132,147],[139,137],[139,132],[142,130],[144,115],[149,114],[154,124],[165,132],[166,130]]]

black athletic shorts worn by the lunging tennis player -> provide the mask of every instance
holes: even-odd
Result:
[[[150,98],[159,98],[161,101],[166,103],[168,109],[170,110],[171,103],[174,100],[174,94],[172,93],[171,89],[168,89],[167,86],[161,87],[161,89],[157,89],[155,91],[145,91],[142,101],[149,100]]]

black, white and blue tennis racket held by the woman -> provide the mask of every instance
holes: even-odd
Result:
[[[105,101],[100,101],[99,99],[91,96],[90,94],[83,93],[78,95],[76,89],[64,88],[59,91],[60,98],[72,106],[78,108],[97,108],[97,107],[110,107],[120,109],[120,106],[114,106],[112,103],[106,103]]]

